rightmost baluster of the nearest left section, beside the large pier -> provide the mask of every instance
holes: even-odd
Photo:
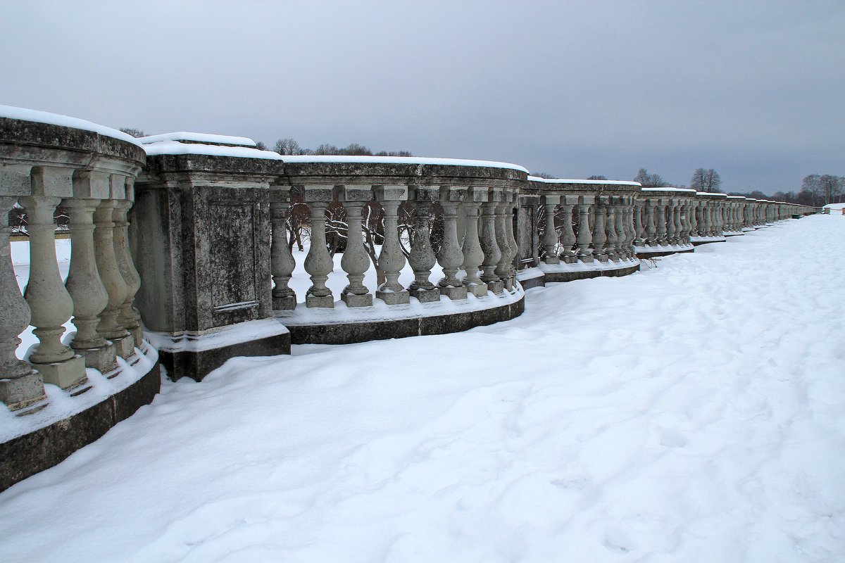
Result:
[[[112,219],[114,220],[114,253],[117,257],[117,269],[126,282],[126,299],[120,306],[117,322],[126,328],[132,336],[132,348],[140,347],[144,342],[144,331],[141,330],[141,316],[134,310],[135,294],[141,287],[141,276],[135,268],[132,253],[129,252],[129,221],[128,212],[135,201],[135,179],[129,176],[112,174],[112,181],[123,186],[125,198],[118,199],[114,206]]]

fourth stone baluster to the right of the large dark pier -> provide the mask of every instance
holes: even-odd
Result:
[[[405,255],[399,242],[399,206],[408,197],[406,186],[373,187],[376,200],[384,208],[384,245],[379,252],[379,268],[386,281],[375,296],[388,305],[411,302],[411,294],[399,283],[399,273],[405,267]]]

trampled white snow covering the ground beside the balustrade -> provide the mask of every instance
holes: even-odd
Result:
[[[843,251],[842,216],[793,220],[165,382],[0,494],[0,560],[845,560]]]

